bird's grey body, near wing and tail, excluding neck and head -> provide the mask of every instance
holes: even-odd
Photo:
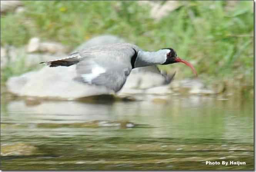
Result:
[[[64,59],[42,63],[50,67],[77,64],[76,81],[105,86],[117,92],[132,70],[134,50],[137,52],[140,48],[129,43],[94,46]]]

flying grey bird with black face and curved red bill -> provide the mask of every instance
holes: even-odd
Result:
[[[92,46],[74,52],[66,58],[41,63],[49,67],[76,65],[77,77],[73,78],[75,81],[104,86],[115,93],[122,89],[134,68],[184,63],[197,76],[194,66],[179,58],[173,48],[143,51],[139,46],[131,43]]]

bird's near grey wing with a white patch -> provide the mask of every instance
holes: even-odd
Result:
[[[100,50],[86,52],[77,63],[78,77],[84,83],[105,86],[115,92],[124,85],[132,70],[131,59],[135,54],[131,47],[124,50]]]

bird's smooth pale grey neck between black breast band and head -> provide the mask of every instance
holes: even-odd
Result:
[[[134,67],[139,68],[143,66],[152,66],[156,64],[162,64],[164,62],[165,61],[160,58],[158,51],[138,51]]]

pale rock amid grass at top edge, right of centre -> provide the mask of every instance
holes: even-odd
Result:
[[[172,1],[139,1],[139,4],[147,4],[151,6],[151,17],[154,18],[156,21],[160,20],[161,18],[165,17],[169,14],[169,12],[175,10],[176,8],[181,6],[181,3],[177,0]]]

